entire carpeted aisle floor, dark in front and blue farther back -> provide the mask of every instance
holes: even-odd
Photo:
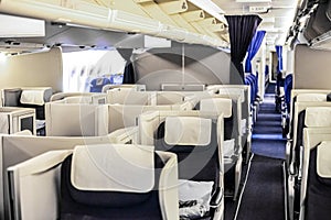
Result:
[[[238,204],[226,208],[225,220],[285,220],[284,158],[286,140],[281,117],[275,110],[275,95],[266,94],[253,130],[253,158]],[[245,180],[245,179],[244,179]],[[226,202],[228,205],[228,202]],[[231,213],[236,207],[237,212]]]

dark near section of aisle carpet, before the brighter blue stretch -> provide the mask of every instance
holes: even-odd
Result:
[[[285,220],[282,160],[254,155],[236,220]]]

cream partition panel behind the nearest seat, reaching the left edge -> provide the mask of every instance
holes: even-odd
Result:
[[[0,169],[0,219],[9,219],[8,176],[9,166],[38,156],[47,151],[72,150],[75,145],[99,144],[111,142],[108,136],[20,136],[1,135],[1,169]],[[113,142],[114,143],[114,142]]]

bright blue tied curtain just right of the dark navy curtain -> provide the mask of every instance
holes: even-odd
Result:
[[[258,52],[265,35],[266,35],[266,31],[258,31],[255,33],[247,51],[248,54],[247,54],[246,65],[245,65],[246,73],[252,73],[252,59]]]

